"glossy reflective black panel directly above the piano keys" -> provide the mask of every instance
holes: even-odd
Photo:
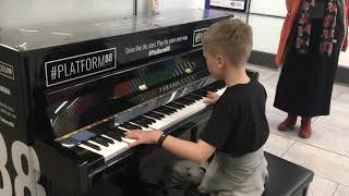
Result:
[[[55,132],[62,136],[206,75],[202,51],[195,51],[106,78],[97,85],[84,84],[49,94],[47,111]]]

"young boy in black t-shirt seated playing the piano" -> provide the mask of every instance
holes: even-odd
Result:
[[[208,93],[206,103],[215,103],[213,114],[196,143],[161,131],[130,131],[130,144],[159,144],[185,159],[174,164],[171,185],[194,184],[209,195],[262,195],[267,177],[262,146],[269,128],[265,117],[266,91],[245,73],[252,50],[252,28],[240,20],[213,24],[204,35],[204,57],[209,74],[226,82],[219,97]],[[214,155],[207,168],[204,162]]]

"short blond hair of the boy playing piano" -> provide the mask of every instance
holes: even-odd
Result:
[[[252,27],[228,19],[213,24],[204,34],[203,47],[210,56],[226,54],[232,65],[244,64],[252,51]]]

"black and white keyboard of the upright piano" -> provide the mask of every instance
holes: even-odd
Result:
[[[193,91],[184,97],[172,100],[165,106],[154,109],[143,115],[129,122],[118,124],[95,135],[88,140],[82,142],[79,147],[98,154],[105,158],[105,161],[112,159],[128,149],[128,144],[134,139],[123,137],[124,132],[130,130],[161,130],[174,125],[176,123],[202,111],[207,107],[203,102],[207,90],[222,95],[226,87],[219,83],[213,83],[202,89]]]

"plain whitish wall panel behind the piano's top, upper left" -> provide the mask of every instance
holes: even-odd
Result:
[[[2,28],[133,14],[133,0],[0,0],[0,4]]]

